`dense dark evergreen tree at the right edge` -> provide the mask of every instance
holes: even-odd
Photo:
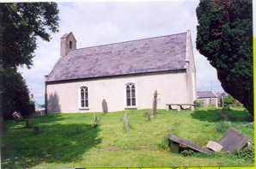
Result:
[[[252,0],[200,0],[197,49],[216,68],[222,88],[253,115]]]

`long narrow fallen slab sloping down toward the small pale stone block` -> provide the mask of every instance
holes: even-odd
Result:
[[[168,133],[168,138],[169,138],[170,142],[176,142],[177,144],[184,145],[187,148],[196,150],[196,151],[204,153],[204,154],[210,154],[213,152],[208,148],[203,148],[202,146],[199,146],[198,144],[195,144],[193,142],[189,142],[183,138],[180,138],[179,136],[174,136],[174,135]],[[177,149],[177,144],[175,145],[176,148],[174,148],[174,151],[176,151],[176,149]],[[172,148],[170,150],[172,151]],[[176,152],[174,152],[174,153],[176,153]]]

